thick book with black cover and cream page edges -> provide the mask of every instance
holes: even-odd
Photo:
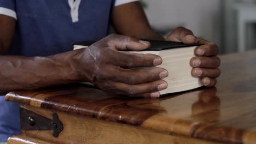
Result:
[[[195,57],[194,50],[201,44],[183,44],[174,41],[146,40],[151,46],[143,51],[127,51],[132,53],[150,53],[162,58],[162,64],[157,67],[168,71],[165,80],[168,88],[160,91],[160,95],[188,91],[202,86],[201,79],[191,75],[190,59]],[[95,41],[83,41],[73,44],[74,50],[85,48]],[[151,67],[139,67],[135,69],[149,69]],[[131,68],[134,69],[134,68]],[[89,83],[87,83],[89,84]]]

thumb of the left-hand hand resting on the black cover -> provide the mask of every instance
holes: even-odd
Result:
[[[107,39],[108,45],[120,51],[141,51],[150,47],[150,43],[148,41],[139,40],[126,35],[110,34]]]

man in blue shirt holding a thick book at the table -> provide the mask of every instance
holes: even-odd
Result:
[[[123,35],[106,37],[110,22]],[[195,50],[191,74],[205,86],[216,85],[218,47],[183,27],[162,38],[149,26],[138,1],[0,0],[0,92],[89,81],[114,94],[158,98],[167,88],[165,69],[125,69],[162,63],[156,55],[122,52],[150,46],[137,38],[205,44]],[[71,44],[81,40],[99,41],[72,51]],[[20,133],[18,104],[4,97],[0,104],[0,141],[6,141]]]

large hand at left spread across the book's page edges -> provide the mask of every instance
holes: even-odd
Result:
[[[111,34],[79,52],[78,74],[82,80],[93,83],[103,91],[131,97],[158,98],[159,91],[167,88],[164,80],[168,72],[154,67],[162,63],[159,56],[130,53],[147,49],[150,43],[133,37]]]

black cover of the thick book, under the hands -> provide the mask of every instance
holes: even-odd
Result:
[[[176,49],[179,47],[190,47],[190,46],[202,45],[202,44],[184,44],[184,43],[174,42],[174,41],[161,41],[161,40],[148,40],[148,39],[142,39],[142,40],[149,41],[151,44],[149,49],[146,49],[146,51],[161,51],[161,50],[166,50],[166,49]],[[96,41],[81,41],[78,43],[74,43],[73,45],[90,46],[91,44],[94,44],[95,42]]]

